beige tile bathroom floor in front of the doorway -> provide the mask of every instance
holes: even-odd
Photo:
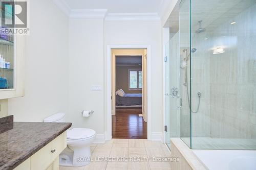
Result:
[[[92,159],[97,157],[133,158],[141,157],[140,161],[92,161],[83,167],[63,167],[60,170],[165,170],[170,169],[170,162],[153,161],[154,157],[170,157],[167,147],[160,141],[149,141],[147,139],[112,139],[104,144],[91,145]]]

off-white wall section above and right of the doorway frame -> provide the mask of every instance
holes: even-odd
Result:
[[[151,45],[151,96],[152,133],[162,133],[162,41],[160,20],[106,20],[104,27],[106,45]],[[106,54],[105,54],[106,56]],[[155,133],[156,132],[156,133]]]

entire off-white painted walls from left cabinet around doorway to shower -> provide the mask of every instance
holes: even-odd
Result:
[[[25,97],[9,100],[9,114],[14,114],[15,121],[41,122],[63,111],[73,127],[92,128],[103,138],[104,48],[109,44],[145,44],[151,45],[152,57],[152,132],[162,133],[160,20],[68,19],[50,0],[31,1],[30,7],[33,15],[27,40]],[[91,91],[92,85],[100,85],[102,90]],[[94,110],[94,114],[84,118],[82,110]]]

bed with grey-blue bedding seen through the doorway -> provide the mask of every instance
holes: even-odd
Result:
[[[123,96],[116,94],[116,107],[142,107],[142,94],[125,93]]]

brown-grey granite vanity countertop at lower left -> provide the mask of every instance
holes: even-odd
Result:
[[[13,169],[71,127],[71,123],[14,122],[0,133],[0,169]]]

